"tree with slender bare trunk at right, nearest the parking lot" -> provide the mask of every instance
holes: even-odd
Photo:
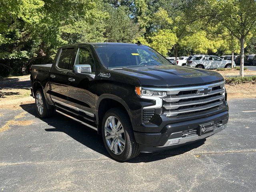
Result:
[[[256,30],[255,0],[192,0],[191,21],[205,18],[220,23],[240,41],[240,76],[244,76],[244,41]],[[190,12],[191,14],[191,12]]]

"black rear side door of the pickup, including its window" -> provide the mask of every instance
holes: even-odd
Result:
[[[68,100],[68,73],[69,66],[74,62],[75,48],[62,48],[55,66],[50,71],[50,96],[54,102],[64,102]]]

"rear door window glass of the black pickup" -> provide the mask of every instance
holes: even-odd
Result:
[[[62,49],[58,62],[58,68],[68,70],[74,57],[74,48]]]

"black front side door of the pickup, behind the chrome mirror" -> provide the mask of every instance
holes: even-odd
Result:
[[[90,64],[92,74],[69,73],[68,104],[78,108],[84,116],[92,118],[95,113],[95,94],[93,93],[95,86],[93,80],[96,65],[89,47],[81,46],[78,48],[75,64]],[[70,67],[70,70],[72,68],[73,66]]]

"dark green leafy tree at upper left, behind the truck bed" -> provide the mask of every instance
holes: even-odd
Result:
[[[64,26],[88,26],[102,18],[100,0],[1,0],[0,74],[26,72],[38,60],[48,62],[59,46],[67,43]],[[64,38],[64,39],[63,39]],[[80,38],[80,37],[78,37]]]

